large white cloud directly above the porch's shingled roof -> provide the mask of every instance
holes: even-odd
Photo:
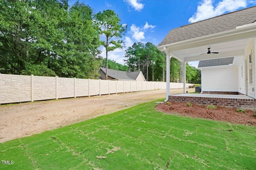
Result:
[[[224,14],[225,12],[233,12],[239,8],[247,6],[246,0],[222,0],[216,7],[213,6],[213,0],[202,0],[199,2],[197,12],[189,18],[190,23],[206,20],[215,16]]]

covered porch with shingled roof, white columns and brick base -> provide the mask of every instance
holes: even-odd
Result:
[[[214,104],[225,107],[255,108],[256,92],[254,89],[256,87],[256,67],[254,66],[254,61],[256,56],[256,22],[252,19],[253,16],[256,16],[255,9],[256,7],[247,8],[208,20],[184,25],[172,29],[168,35],[166,35],[158,46],[158,49],[166,54],[166,82],[170,82],[170,58],[174,57],[182,62],[183,65],[184,94],[171,96],[170,88],[167,83],[165,102],[169,100],[197,104]],[[249,59],[249,54],[252,59]],[[233,71],[237,76],[227,77],[224,74],[219,74],[220,71],[212,72],[212,75],[214,75],[212,81],[214,82],[218,79],[218,76],[222,76],[223,86],[218,89],[216,89],[216,86],[211,86],[211,89],[207,91],[237,92],[242,95],[186,94],[186,63],[224,59],[228,57],[238,59],[238,66],[236,69],[225,71]],[[252,61],[251,65],[249,61]],[[244,65],[241,66],[242,63],[244,63]],[[216,70],[218,70],[218,68],[216,68]],[[250,81],[249,73],[252,75],[250,76]],[[230,90],[230,84],[234,84],[230,82],[231,80],[234,80],[233,82],[236,84],[236,86],[234,86],[234,88],[236,88],[235,90]],[[202,84],[202,87],[204,87],[204,85],[205,84]]]

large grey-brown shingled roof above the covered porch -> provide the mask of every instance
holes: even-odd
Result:
[[[256,21],[256,6],[172,29],[159,46],[236,29]]]

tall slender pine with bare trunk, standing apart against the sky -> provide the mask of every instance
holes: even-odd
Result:
[[[106,80],[108,79],[108,52],[123,47],[123,41],[120,40],[126,33],[127,25],[120,24],[118,15],[112,10],[99,12],[95,15],[100,34],[104,35],[105,41],[101,41],[106,49]]]

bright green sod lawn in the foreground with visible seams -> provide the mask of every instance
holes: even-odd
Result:
[[[256,169],[255,126],[168,115],[154,106],[1,143],[0,169]]]

